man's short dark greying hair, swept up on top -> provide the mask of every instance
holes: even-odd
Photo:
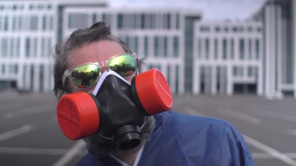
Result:
[[[70,93],[69,88],[62,84],[62,76],[67,69],[66,57],[73,50],[100,40],[115,41],[119,43],[126,52],[132,52],[123,40],[111,34],[110,27],[104,21],[94,23],[89,28],[74,31],[65,42],[58,43],[55,46],[55,86],[53,91],[57,98],[60,98],[66,93]],[[143,61],[139,59],[137,63],[138,66],[141,67]]]

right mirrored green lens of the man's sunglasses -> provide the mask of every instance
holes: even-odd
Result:
[[[131,55],[121,55],[111,59],[109,67],[120,76],[126,77],[136,71],[136,62]]]

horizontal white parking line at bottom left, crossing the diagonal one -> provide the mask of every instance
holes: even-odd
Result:
[[[8,154],[41,154],[41,155],[64,155],[68,149],[42,149],[42,148],[15,148],[0,147],[0,153]],[[87,150],[82,150],[77,155],[85,155]]]

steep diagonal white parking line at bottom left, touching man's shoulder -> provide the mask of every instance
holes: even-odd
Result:
[[[80,149],[84,148],[85,142],[79,140],[67,153],[60,158],[53,166],[65,166],[75,155],[80,152]]]

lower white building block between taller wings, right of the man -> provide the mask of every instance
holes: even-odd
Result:
[[[193,94],[262,94],[262,24],[195,22]]]

